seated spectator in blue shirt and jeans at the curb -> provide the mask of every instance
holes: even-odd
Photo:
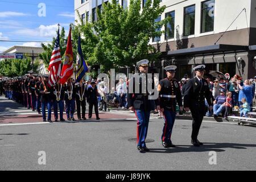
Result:
[[[223,105],[226,102],[226,96],[224,89],[220,89],[220,96],[217,96],[215,98],[215,101],[213,101],[213,114],[214,118],[217,118],[218,115],[225,110],[225,106]]]

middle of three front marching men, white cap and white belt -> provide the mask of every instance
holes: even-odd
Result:
[[[160,111],[164,117],[162,134],[164,148],[175,147],[171,141],[171,134],[176,116],[176,104],[178,103],[180,110],[183,110],[179,81],[174,78],[176,68],[175,65],[165,67],[167,78],[160,80],[158,85]]]

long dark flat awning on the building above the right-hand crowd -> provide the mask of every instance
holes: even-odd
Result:
[[[256,46],[255,46],[256,48]],[[224,51],[247,51],[248,46],[236,46],[236,45],[226,45],[218,44],[213,46],[197,47],[197,48],[187,48],[179,49],[176,51],[164,52],[162,56],[179,56],[179,55],[196,55],[204,53],[213,53],[213,52],[224,52]]]

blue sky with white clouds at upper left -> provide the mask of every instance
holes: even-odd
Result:
[[[46,5],[46,16],[38,7]],[[73,0],[0,0],[0,40],[51,41],[57,24],[65,28],[73,23]],[[0,42],[0,52],[14,45],[40,46],[40,43]]]

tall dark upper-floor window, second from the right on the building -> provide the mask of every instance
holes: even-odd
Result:
[[[195,9],[195,5],[184,7],[183,36],[195,34]]]

